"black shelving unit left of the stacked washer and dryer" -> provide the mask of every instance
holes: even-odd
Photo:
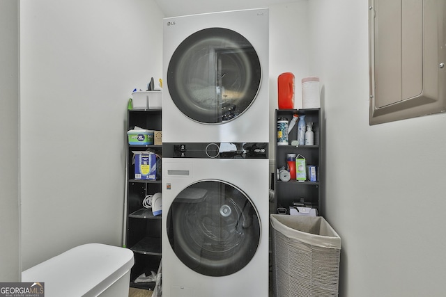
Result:
[[[161,131],[161,109],[129,110],[128,130],[135,126]],[[134,252],[134,266],[130,273],[130,287],[153,290],[155,282],[135,282],[145,273],[157,272],[161,262],[161,216],[153,216],[151,209],[142,206],[146,195],[161,192],[161,180],[134,178],[134,151],[151,151],[159,156],[162,145],[128,145],[127,175],[127,236],[125,245]]]

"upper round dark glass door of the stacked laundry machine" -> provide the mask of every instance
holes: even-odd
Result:
[[[218,124],[241,115],[259,92],[261,65],[236,31],[208,28],[187,37],[171,57],[167,86],[187,117]]]

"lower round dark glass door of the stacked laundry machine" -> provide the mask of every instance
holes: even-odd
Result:
[[[210,276],[230,275],[245,267],[259,246],[260,227],[247,195],[217,180],[185,188],[167,214],[167,235],[178,259]]]

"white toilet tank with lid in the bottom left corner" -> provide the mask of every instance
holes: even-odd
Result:
[[[133,252],[88,243],[22,272],[22,282],[44,282],[45,297],[128,296]]]

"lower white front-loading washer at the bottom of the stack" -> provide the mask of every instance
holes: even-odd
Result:
[[[162,160],[162,294],[268,296],[268,152],[195,145]]]

